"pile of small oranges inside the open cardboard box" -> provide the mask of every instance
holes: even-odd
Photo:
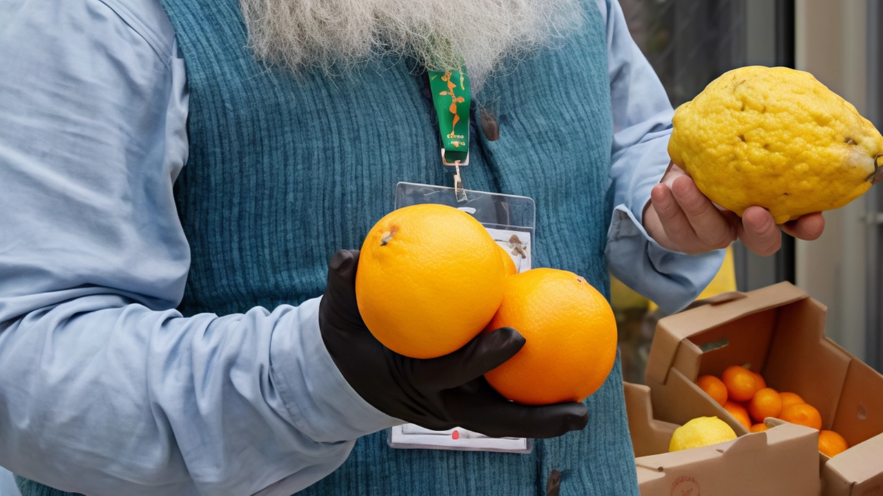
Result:
[[[819,431],[819,451],[825,455],[834,456],[849,447],[837,432],[822,430],[819,410],[804,402],[800,395],[766,387],[766,380],[760,374],[745,367],[729,366],[720,379],[713,375],[699,376],[696,384],[751,432],[766,431],[763,423],[766,417],[781,418]]]

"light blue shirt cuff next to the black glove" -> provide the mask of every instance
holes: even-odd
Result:
[[[375,409],[343,379],[322,341],[320,301],[300,304],[294,325],[278,326],[270,343],[271,374],[294,425],[315,441],[336,442],[403,424]]]

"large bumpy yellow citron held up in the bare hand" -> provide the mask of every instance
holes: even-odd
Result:
[[[846,205],[883,177],[883,136],[809,72],[742,67],[675,112],[672,162],[738,215],[776,223]]]

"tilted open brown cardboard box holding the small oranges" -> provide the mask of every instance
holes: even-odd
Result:
[[[680,424],[717,416],[745,433],[695,384],[700,375],[744,365],[768,387],[801,395],[819,410],[822,429],[849,443],[833,459],[819,454],[823,494],[883,495],[883,376],[825,337],[825,312],[781,282],[660,319],[645,374],[655,417]]]

